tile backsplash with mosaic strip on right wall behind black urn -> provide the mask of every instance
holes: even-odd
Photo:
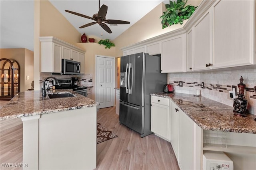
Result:
[[[256,68],[228,71],[211,72],[188,72],[188,73],[168,73],[168,84],[173,84],[175,92],[196,94],[196,90],[201,90],[201,95],[217,102],[233,106],[233,99],[230,98],[228,91],[232,86],[240,83],[240,77],[246,84],[244,95],[248,100],[248,111],[256,115],[256,93],[253,89],[256,86]],[[179,82],[183,86],[179,86]],[[204,88],[201,84],[204,82]],[[238,87],[237,87],[238,93]]]

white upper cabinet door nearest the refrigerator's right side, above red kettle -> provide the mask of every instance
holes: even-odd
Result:
[[[161,72],[183,72],[185,70],[185,35],[161,41]]]

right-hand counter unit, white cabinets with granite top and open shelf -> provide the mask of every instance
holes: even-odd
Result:
[[[256,169],[256,115],[202,96],[151,94],[151,131],[172,144],[180,169],[202,169],[203,153],[224,152],[234,169]]]

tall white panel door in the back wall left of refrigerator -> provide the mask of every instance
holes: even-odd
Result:
[[[97,56],[96,101],[98,108],[114,106],[114,58]]]

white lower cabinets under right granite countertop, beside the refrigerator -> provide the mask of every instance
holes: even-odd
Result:
[[[151,131],[172,144],[180,169],[200,169],[202,128],[168,98],[151,96],[151,105]]]

